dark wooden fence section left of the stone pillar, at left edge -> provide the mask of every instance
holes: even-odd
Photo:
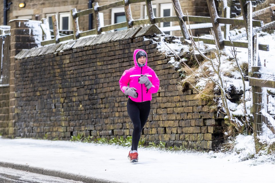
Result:
[[[0,86],[9,85],[10,29],[0,29]]]

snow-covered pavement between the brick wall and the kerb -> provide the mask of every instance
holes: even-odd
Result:
[[[249,159],[254,154],[252,136],[238,136],[232,153],[167,152],[154,148],[139,148],[138,151],[139,162],[130,163],[127,159],[129,148],[121,146],[0,138],[1,162],[28,164],[110,181],[274,182],[272,157]]]

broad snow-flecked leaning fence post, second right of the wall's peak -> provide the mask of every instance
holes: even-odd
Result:
[[[217,40],[217,45],[219,49],[224,49],[223,35],[221,33],[221,26],[218,21],[219,16],[216,10],[214,0],[207,0],[207,5],[208,5],[212,25],[213,25],[213,31],[215,34],[215,38]]]

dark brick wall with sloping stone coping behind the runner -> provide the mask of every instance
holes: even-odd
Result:
[[[127,98],[118,81],[134,65],[134,49],[141,48],[160,79],[142,138],[167,146],[215,148],[220,120],[204,102],[194,100],[191,89],[177,90],[179,75],[156,48],[160,39],[148,37],[153,32],[160,33],[155,25],[21,51],[16,55],[15,136],[131,135]]]

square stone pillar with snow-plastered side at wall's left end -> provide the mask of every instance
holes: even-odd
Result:
[[[27,19],[14,19],[9,21],[11,25],[11,41],[10,41],[10,77],[9,77],[9,122],[8,122],[8,137],[14,137],[16,122],[20,109],[16,98],[20,94],[16,91],[16,71],[18,65],[15,60],[17,55],[23,49],[31,49],[38,47],[42,41],[42,29],[40,28],[41,21],[32,21]]]

